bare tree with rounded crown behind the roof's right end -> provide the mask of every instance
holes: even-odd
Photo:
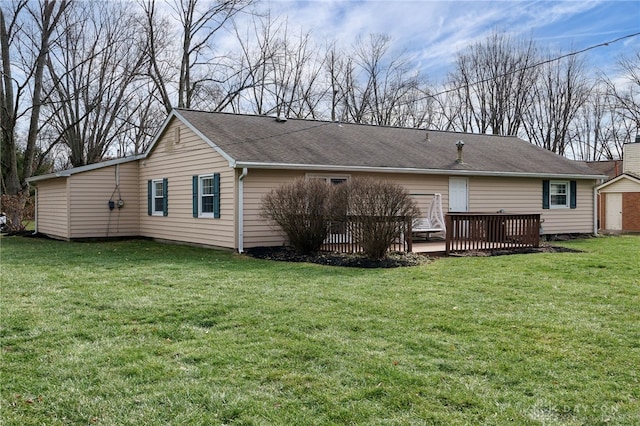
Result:
[[[580,108],[589,99],[590,83],[584,64],[576,56],[549,60],[540,67],[532,86],[532,103],[524,111],[524,130],[529,141],[556,154],[567,154],[570,129]]]

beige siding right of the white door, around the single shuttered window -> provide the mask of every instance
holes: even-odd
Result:
[[[567,179],[568,180],[568,179]],[[575,209],[543,209],[542,179],[469,178],[471,212],[540,213],[545,234],[593,232],[593,188],[596,182],[577,181]]]

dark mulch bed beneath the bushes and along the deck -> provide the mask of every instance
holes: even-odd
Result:
[[[485,256],[505,256],[509,254],[523,253],[578,253],[566,247],[557,247],[548,244],[541,245],[539,248],[523,248],[512,250],[493,250],[493,251],[468,251],[464,253],[454,253],[452,256],[457,257],[485,257]],[[346,266],[356,268],[398,268],[403,266],[417,266],[429,263],[433,258],[426,254],[419,253],[390,253],[386,258],[380,260],[372,260],[361,254],[320,252],[317,254],[300,254],[291,247],[255,247],[247,249],[248,256],[257,259],[276,260],[283,262],[308,262],[317,263],[319,265],[330,266]]]

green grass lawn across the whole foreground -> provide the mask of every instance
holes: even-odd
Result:
[[[3,425],[640,424],[640,237],[386,270],[0,239]]]

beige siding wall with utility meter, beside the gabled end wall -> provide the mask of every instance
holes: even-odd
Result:
[[[116,187],[116,171],[119,186]],[[124,163],[72,175],[69,179],[71,238],[139,235],[138,163]],[[118,191],[119,190],[119,191]],[[109,200],[124,201],[109,209]]]

